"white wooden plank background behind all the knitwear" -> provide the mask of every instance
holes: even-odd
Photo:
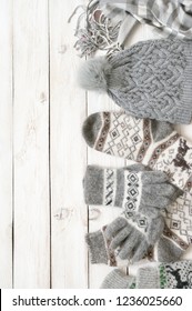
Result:
[[[99,288],[112,269],[90,264],[84,243],[119,213],[84,204],[87,164],[124,164],[81,136],[87,116],[119,110],[75,82],[68,19],[87,2],[0,0],[0,288]],[[142,26],[128,46],[150,38]],[[192,141],[192,126],[178,130]]]

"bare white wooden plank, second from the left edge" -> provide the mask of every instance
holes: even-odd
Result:
[[[50,287],[48,1],[13,1],[14,288]]]

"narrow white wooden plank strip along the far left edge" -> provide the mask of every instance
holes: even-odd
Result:
[[[0,0],[0,288],[12,288],[12,1]]]

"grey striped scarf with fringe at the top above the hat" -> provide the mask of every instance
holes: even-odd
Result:
[[[91,0],[81,8],[74,33],[81,57],[123,49],[138,22],[153,26],[164,38],[192,39],[192,0]]]

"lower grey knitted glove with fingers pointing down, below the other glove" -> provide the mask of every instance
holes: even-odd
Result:
[[[163,229],[162,217],[152,220],[140,214],[119,217],[101,230],[85,235],[91,263],[117,267],[127,265],[128,261],[137,262],[148,254]]]

